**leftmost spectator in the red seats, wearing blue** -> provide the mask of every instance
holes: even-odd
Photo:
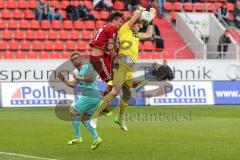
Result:
[[[39,0],[37,8],[35,9],[35,16],[39,22],[48,17],[48,5],[45,0]]]

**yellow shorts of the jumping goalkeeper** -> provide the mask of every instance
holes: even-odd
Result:
[[[113,85],[131,88],[133,85],[133,69],[127,64],[119,61],[118,70],[113,74]]]

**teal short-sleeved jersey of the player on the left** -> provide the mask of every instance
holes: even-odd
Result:
[[[87,77],[90,74],[94,76],[94,81],[91,83],[79,81],[79,85],[82,88],[82,96],[87,96],[90,98],[101,98],[101,93],[98,90],[96,78],[97,78],[97,72],[93,69],[92,64],[84,64],[82,65],[82,68],[78,71],[77,75],[79,77]]]

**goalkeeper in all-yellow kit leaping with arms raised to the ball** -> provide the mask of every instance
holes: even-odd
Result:
[[[122,89],[123,96],[119,104],[120,112],[118,118],[115,119],[115,123],[124,131],[127,131],[127,127],[124,123],[124,113],[131,95],[130,88],[133,83],[133,66],[138,59],[139,40],[151,38],[153,32],[153,22],[151,22],[148,25],[146,33],[139,33],[139,30],[143,27],[144,23],[140,20],[143,11],[145,11],[145,8],[142,7],[136,10],[134,15],[129,18],[129,20],[118,31],[118,39],[120,43],[118,53],[119,68],[115,70],[113,74],[114,86],[111,92],[104,96],[100,106],[92,116],[92,118],[98,117]],[[155,17],[156,10],[151,8],[150,12]]]

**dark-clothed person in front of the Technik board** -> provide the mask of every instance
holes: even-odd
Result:
[[[174,79],[173,71],[168,66],[167,60],[163,60],[163,65],[160,66],[157,63],[153,63],[152,75],[156,76],[158,81],[171,81]]]

